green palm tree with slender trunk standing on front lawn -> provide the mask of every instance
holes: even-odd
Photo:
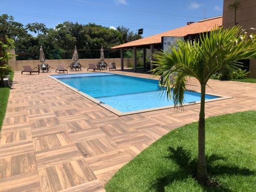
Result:
[[[231,74],[237,69],[237,61],[256,58],[256,35],[248,35],[241,27],[230,30],[216,28],[197,41],[177,41],[169,52],[154,55],[157,68],[153,74],[161,75],[168,98],[175,107],[184,104],[187,77],[195,77],[201,84],[201,104],[198,125],[197,180],[208,181],[205,161],[205,89],[209,78],[220,69]],[[175,78],[170,80],[170,76]]]

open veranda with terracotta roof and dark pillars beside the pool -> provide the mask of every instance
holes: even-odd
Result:
[[[193,40],[198,38],[199,34],[211,31],[215,27],[222,26],[222,16],[212,17],[208,19],[199,20],[195,23],[187,23],[186,26],[169,30],[163,33],[159,33],[153,36],[145,37],[142,39],[134,40],[131,42],[127,42],[125,44],[121,44],[112,49],[120,50],[120,58],[121,58],[121,71],[124,70],[123,65],[123,55],[125,49],[133,49],[133,72],[137,72],[137,50],[143,50],[143,69],[146,71],[148,67],[150,70],[154,68],[153,62],[153,54],[162,49],[162,37],[183,37],[184,40]],[[147,54],[149,51],[149,54]],[[149,58],[149,61],[146,62],[146,57]]]

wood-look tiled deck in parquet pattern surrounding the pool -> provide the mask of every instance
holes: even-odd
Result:
[[[194,79],[189,84],[200,90]],[[208,85],[208,93],[233,98],[206,103],[207,117],[256,110],[256,84]],[[103,191],[125,163],[169,131],[197,121],[198,113],[196,104],[183,112],[118,117],[46,74],[15,73],[0,138],[0,191]]]

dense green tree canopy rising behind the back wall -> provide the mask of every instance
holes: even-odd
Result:
[[[63,22],[55,28],[47,28],[42,23],[31,23],[24,26],[15,22],[13,16],[0,15],[0,34],[5,34],[15,41],[15,48],[28,50],[34,59],[38,57],[39,48],[44,48],[47,58],[61,58],[69,54],[76,46],[78,50],[110,49],[113,46],[141,38],[123,26],[117,30],[89,23]],[[34,35],[32,35],[34,34]],[[90,51],[88,52],[90,53]],[[69,55],[68,55],[69,56]]]

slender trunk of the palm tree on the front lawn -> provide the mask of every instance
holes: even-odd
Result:
[[[198,163],[197,163],[197,180],[204,182],[208,179],[205,161],[205,87],[201,84],[201,105],[198,125]]]

